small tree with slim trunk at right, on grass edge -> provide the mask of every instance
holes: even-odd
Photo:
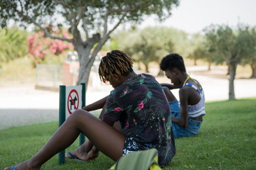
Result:
[[[229,26],[209,26],[205,28],[206,40],[208,40],[208,49],[212,49],[216,56],[223,57],[223,60],[230,67],[229,78],[229,100],[235,99],[234,80],[238,64],[242,57],[248,54],[247,26],[238,25],[234,31]]]

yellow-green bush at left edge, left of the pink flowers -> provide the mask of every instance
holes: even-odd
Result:
[[[0,30],[0,62],[9,62],[24,57],[28,50],[28,33],[16,26]]]

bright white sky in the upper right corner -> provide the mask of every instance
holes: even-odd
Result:
[[[256,26],[256,0],[181,0],[172,15],[164,23],[153,17],[145,19],[139,26],[168,26],[198,33],[210,24],[225,24],[235,27],[238,23]]]

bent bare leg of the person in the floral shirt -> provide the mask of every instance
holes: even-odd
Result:
[[[18,170],[41,169],[42,164],[48,159],[69,147],[80,132],[85,134],[97,149],[114,161],[122,157],[125,135],[87,111],[78,110],[70,115],[68,120],[50,137],[41,151],[27,162],[16,165],[15,168]],[[8,169],[11,170],[11,167]]]

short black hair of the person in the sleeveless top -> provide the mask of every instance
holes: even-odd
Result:
[[[166,55],[166,57],[164,57],[161,60],[161,63],[160,63],[161,70],[165,71],[166,69],[168,69],[171,71],[171,69],[174,69],[174,67],[181,70],[181,72],[186,72],[183,58],[180,55],[175,53]]]

